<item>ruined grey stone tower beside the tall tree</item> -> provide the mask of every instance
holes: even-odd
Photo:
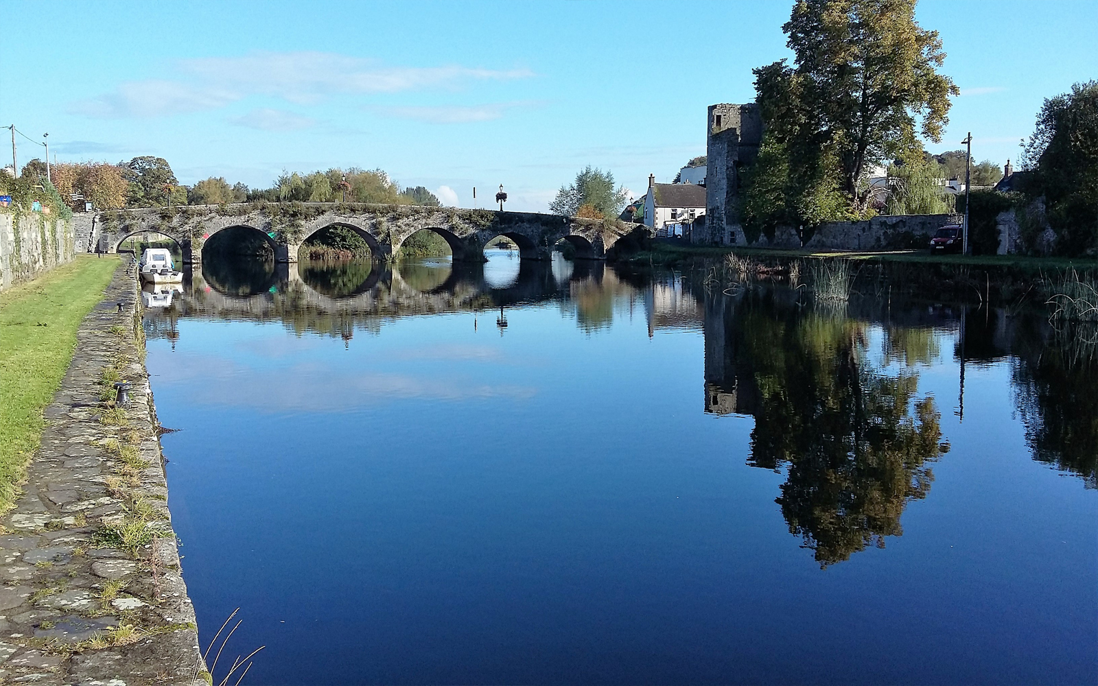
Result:
[[[740,173],[759,156],[761,143],[762,115],[758,104],[709,105],[705,179],[708,240],[702,243],[732,245],[740,238],[737,212]]]

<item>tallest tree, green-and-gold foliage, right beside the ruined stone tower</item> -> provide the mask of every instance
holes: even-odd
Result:
[[[754,70],[758,101],[776,151],[791,170],[786,198],[816,199],[834,185],[865,209],[870,167],[938,142],[950,95],[939,72],[945,53],[935,31],[915,21],[915,0],[800,0],[782,27],[794,52]],[[791,203],[804,215],[802,203]],[[827,206],[829,201],[822,200]],[[797,218],[794,216],[794,218]]]

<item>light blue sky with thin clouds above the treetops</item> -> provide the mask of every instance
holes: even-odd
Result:
[[[585,165],[642,191],[703,155],[706,108],[753,100],[751,68],[788,56],[791,7],[8,0],[0,123],[48,132],[61,161],[165,157],[183,183],[357,166],[544,211]],[[1098,78],[1098,1],[923,0],[918,19],[962,89],[933,151],[971,130],[976,159],[1015,159],[1044,98]]]

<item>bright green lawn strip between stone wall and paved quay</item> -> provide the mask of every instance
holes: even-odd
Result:
[[[38,447],[49,404],[72,359],[76,333],[119,266],[79,256],[0,293],[0,513],[11,508]]]

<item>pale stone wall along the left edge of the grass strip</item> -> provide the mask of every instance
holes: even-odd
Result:
[[[43,212],[0,210],[0,291],[72,259],[70,220]]]

